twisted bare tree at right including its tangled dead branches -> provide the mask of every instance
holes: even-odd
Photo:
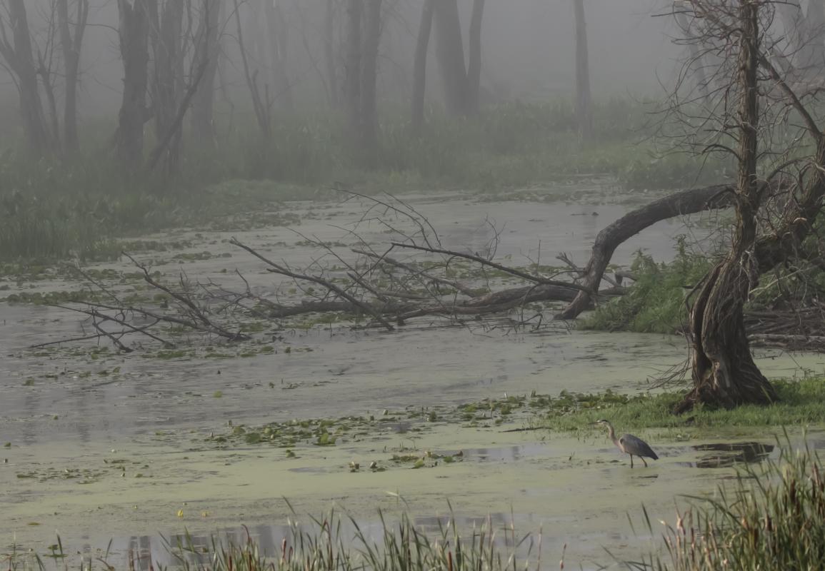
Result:
[[[770,403],[776,393],[754,363],[743,309],[761,275],[806,255],[825,194],[825,138],[818,87],[775,62],[778,0],[687,0],[674,12],[699,55],[726,54],[709,99],[672,95],[681,141],[737,164],[729,194],[735,220],[728,250],[692,293],[693,389],[677,407]],[[692,65],[692,62],[689,63]],[[685,77],[685,76],[682,76]],[[695,89],[695,88],[694,88]]]

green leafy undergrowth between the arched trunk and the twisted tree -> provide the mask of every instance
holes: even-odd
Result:
[[[639,253],[631,265],[637,281],[622,297],[599,306],[582,321],[582,329],[628,330],[672,334],[683,329],[688,311],[685,286],[693,286],[711,269],[713,260],[688,250],[686,236],[677,238],[676,258],[657,264]]]

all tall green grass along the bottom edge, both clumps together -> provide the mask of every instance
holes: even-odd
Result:
[[[795,450],[790,438],[780,443],[780,457],[758,466],[743,466],[732,486],[720,486],[717,498],[689,497],[691,508],[665,526],[662,549],[638,561],[620,562],[627,569],[655,571],[716,571],[718,569],[822,569],[825,561],[825,477],[816,452]],[[644,512],[647,531],[653,524]],[[290,533],[279,553],[263,554],[247,534],[241,542],[196,545],[191,536],[167,541],[175,569],[182,571],[504,571],[505,569],[564,569],[563,561],[541,555],[541,537],[518,537],[512,527],[497,537],[489,520],[472,530],[460,530],[450,517],[427,535],[408,515],[399,522],[380,519],[377,540],[350,519],[353,533],[344,531],[345,518],[330,512],[309,527],[290,522]],[[503,541],[502,541],[503,540]],[[56,569],[65,560],[63,545],[53,545],[45,559]],[[115,571],[106,555],[86,559],[80,571]],[[562,554],[563,555],[563,554]],[[45,571],[44,557],[12,554],[8,571]],[[558,566],[558,567],[557,567]],[[52,565],[48,565],[52,567]],[[129,554],[128,571],[159,569]]]

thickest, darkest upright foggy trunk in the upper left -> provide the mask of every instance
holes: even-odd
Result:
[[[123,101],[115,132],[115,152],[125,164],[139,166],[144,156],[144,123],[148,87],[149,13],[153,0],[118,0],[120,57],[123,59]],[[154,7],[156,9],[156,6]]]

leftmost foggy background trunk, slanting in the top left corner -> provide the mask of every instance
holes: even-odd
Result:
[[[23,129],[29,148],[33,154],[40,156],[49,151],[50,139],[37,87],[38,65],[35,63],[31,47],[31,32],[24,0],[9,0],[8,17],[12,39],[8,38],[6,26],[0,18],[0,54],[16,75]]]

